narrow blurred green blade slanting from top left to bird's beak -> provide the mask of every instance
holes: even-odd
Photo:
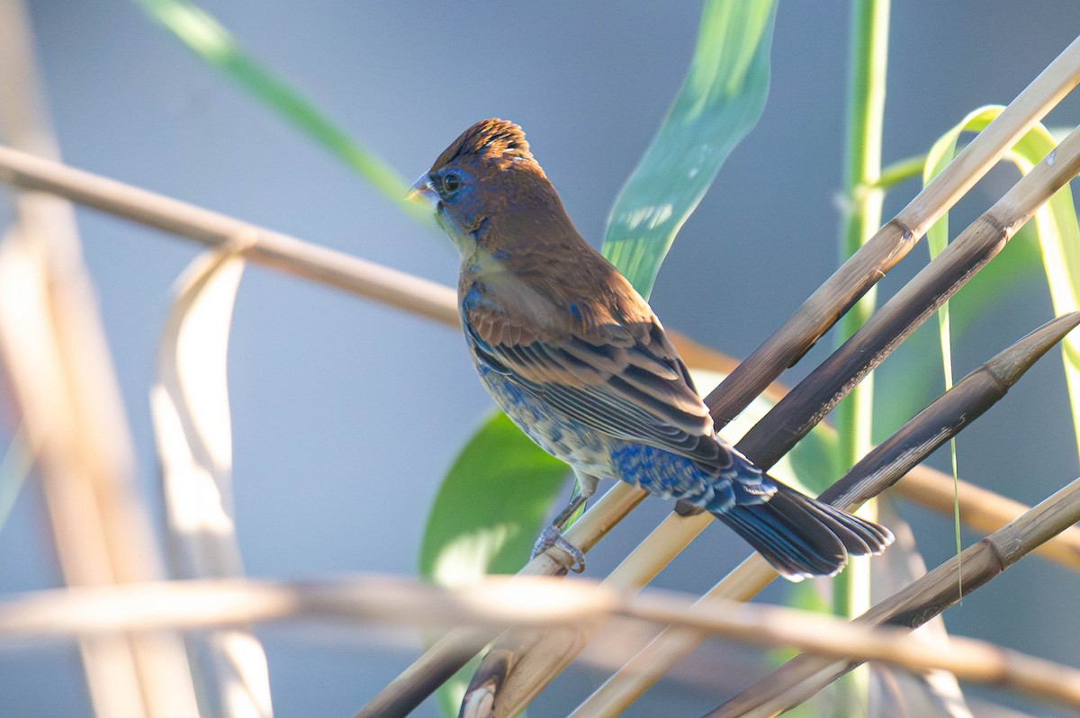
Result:
[[[375,152],[355,141],[307,97],[248,55],[235,38],[188,0],[134,0],[207,65],[264,103],[332,154],[343,160],[375,189],[418,222],[433,227],[431,212],[405,200],[408,182]]]

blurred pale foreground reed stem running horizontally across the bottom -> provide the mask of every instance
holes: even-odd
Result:
[[[255,622],[330,619],[406,626],[575,626],[612,617],[672,624],[762,647],[796,647],[831,659],[881,661],[909,670],[946,669],[1080,705],[1080,670],[986,641],[953,638],[927,646],[894,627],[734,601],[702,606],[689,594],[613,591],[589,581],[492,577],[443,588],[402,578],[333,582],[252,580],[67,588],[0,601],[0,641],[198,629]]]

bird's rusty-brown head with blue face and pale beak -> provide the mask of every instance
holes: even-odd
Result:
[[[525,133],[505,120],[482,120],[465,130],[413,185],[409,198],[427,200],[438,223],[463,254],[496,225],[542,217],[562,203],[532,159]],[[492,235],[507,236],[496,231]]]

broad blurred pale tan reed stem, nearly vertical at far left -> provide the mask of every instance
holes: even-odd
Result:
[[[0,135],[55,157],[30,37],[23,3],[0,0]],[[159,579],[162,561],[138,496],[75,213],[67,202],[33,192],[17,195],[16,213],[17,228],[0,247],[0,352],[37,456],[64,580]],[[97,715],[197,715],[178,637],[100,637],[80,641],[80,653]]]

